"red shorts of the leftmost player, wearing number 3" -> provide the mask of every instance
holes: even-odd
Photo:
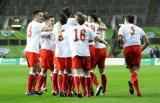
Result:
[[[33,52],[26,52],[26,59],[28,67],[36,67],[39,64],[39,54]]]

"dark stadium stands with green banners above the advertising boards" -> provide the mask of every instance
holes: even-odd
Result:
[[[32,12],[38,9],[48,11],[55,20],[64,6],[76,11],[99,15],[107,25],[106,39],[111,44],[110,52],[123,57],[114,42],[116,24],[123,22],[123,16],[132,14],[138,26],[150,37],[151,47],[160,44],[160,0],[1,0],[0,1],[0,55],[1,57],[25,57],[26,26],[32,19]],[[149,57],[149,50],[143,57]]]

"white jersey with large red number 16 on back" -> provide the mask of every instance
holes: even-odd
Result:
[[[77,25],[67,30],[70,34],[69,44],[71,47],[72,57],[90,56],[89,40],[94,40],[95,32],[84,25]]]

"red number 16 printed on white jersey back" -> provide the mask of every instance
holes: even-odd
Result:
[[[85,29],[82,29],[80,31],[80,37],[78,37],[78,30],[77,29],[74,29],[74,32],[75,32],[75,39],[74,39],[75,42],[79,41],[79,40],[81,40],[81,41],[85,40],[85,32],[86,32]]]

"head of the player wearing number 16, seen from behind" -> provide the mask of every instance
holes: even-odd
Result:
[[[85,22],[85,17],[84,14],[82,12],[77,12],[75,14],[75,18],[78,24],[83,25]]]

